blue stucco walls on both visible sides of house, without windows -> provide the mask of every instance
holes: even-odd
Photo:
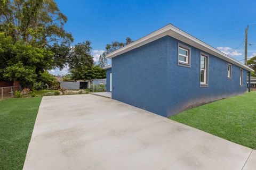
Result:
[[[229,80],[227,62],[210,54],[209,87],[201,88],[199,60],[203,51],[189,46],[191,67],[178,66],[178,43],[189,46],[166,36],[112,58],[112,98],[170,116],[198,104],[246,91],[247,71],[243,70],[241,87],[240,68],[232,64]]]

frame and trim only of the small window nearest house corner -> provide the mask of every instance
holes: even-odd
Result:
[[[187,51],[188,55],[180,54],[179,49]],[[191,48],[190,47],[188,47],[186,45],[183,45],[181,43],[178,43],[178,65],[185,66],[185,67],[190,67],[190,61],[191,61],[191,57],[190,57],[191,55],[190,54],[191,54]],[[179,56],[185,57],[186,62],[180,61]]]

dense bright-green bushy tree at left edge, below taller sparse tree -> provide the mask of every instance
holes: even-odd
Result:
[[[0,33],[0,79],[20,81],[23,87],[32,87],[41,73],[52,68],[53,53],[47,48],[34,47]]]

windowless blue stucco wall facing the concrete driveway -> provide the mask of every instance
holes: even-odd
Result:
[[[166,116],[167,37],[112,58],[112,98]]]

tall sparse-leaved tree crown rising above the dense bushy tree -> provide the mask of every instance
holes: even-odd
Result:
[[[0,11],[0,31],[11,36],[14,43],[23,40],[45,47],[73,41],[63,28],[67,17],[54,0],[4,0],[0,1]]]

